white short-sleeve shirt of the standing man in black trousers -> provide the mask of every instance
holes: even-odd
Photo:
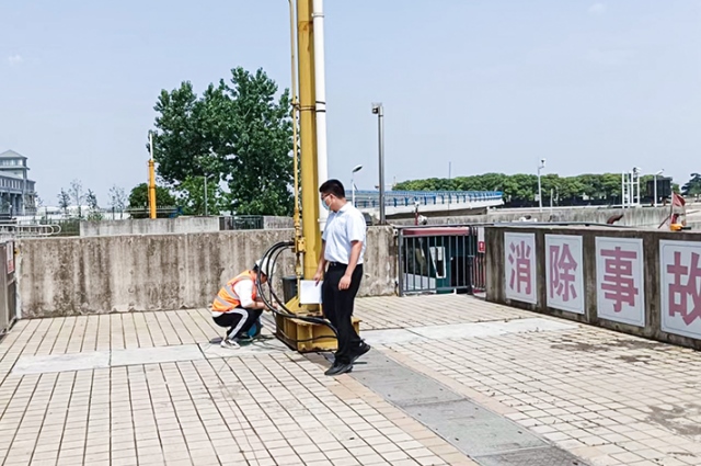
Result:
[[[329,262],[347,264],[350,259],[353,241],[363,242],[358,264],[365,255],[365,238],[367,225],[363,213],[350,203],[346,203],[338,212],[329,213],[322,239],[326,242],[324,259]]]

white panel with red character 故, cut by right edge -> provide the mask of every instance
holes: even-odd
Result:
[[[659,241],[662,329],[701,339],[701,242]]]

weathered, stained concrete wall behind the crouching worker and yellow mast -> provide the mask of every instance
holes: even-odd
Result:
[[[22,317],[207,307],[219,287],[292,230],[42,238],[18,241]],[[279,276],[294,274],[294,254]],[[368,231],[359,295],[395,291],[392,228]],[[277,287],[281,296],[281,286]]]

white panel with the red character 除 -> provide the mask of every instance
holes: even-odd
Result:
[[[545,235],[548,307],[584,314],[582,237]]]

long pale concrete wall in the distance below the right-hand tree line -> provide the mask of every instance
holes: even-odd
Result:
[[[591,208],[591,207],[560,207],[554,208],[552,217],[554,221],[589,221],[593,224],[606,224],[613,216],[624,214],[616,225],[657,228],[669,215],[669,207],[639,207],[639,208]],[[456,224],[492,224],[504,221],[518,221],[519,218],[530,215],[538,221],[548,221],[551,217],[550,209],[494,209],[486,215],[468,215],[453,217],[427,217],[428,225],[456,225]],[[413,225],[413,219],[392,219],[393,225]]]

